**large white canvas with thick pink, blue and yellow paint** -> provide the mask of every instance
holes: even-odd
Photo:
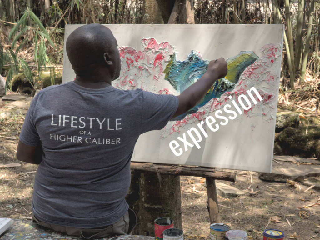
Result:
[[[81,25],[66,25],[65,41]],[[271,172],[284,25],[110,24],[119,89],[179,95],[224,57],[228,74],[194,108],[140,136],[132,161]],[[64,52],[62,82],[75,74]]]

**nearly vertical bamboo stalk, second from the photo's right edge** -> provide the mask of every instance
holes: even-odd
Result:
[[[298,3],[298,16],[297,16],[297,35],[296,35],[296,55],[294,59],[295,68],[300,68],[300,58],[301,58],[301,43],[302,43],[302,25],[303,25],[303,7],[304,0],[299,0]]]

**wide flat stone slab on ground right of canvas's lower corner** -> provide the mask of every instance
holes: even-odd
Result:
[[[259,178],[267,181],[286,182],[288,180],[303,181],[308,177],[320,176],[320,165],[297,165],[292,162],[279,162],[273,161],[272,173],[260,172]]]

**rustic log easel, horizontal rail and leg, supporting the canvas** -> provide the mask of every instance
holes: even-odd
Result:
[[[214,168],[207,167],[187,167],[178,165],[131,162],[131,171],[205,178],[208,193],[207,208],[211,224],[221,222],[215,180],[217,179],[230,182],[236,181],[236,173],[216,171]]]

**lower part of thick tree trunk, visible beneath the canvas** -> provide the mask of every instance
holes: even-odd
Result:
[[[172,218],[174,227],[182,229],[180,176],[160,178],[156,173],[132,173],[126,200],[137,214],[135,235],[155,236],[154,220],[158,217]]]

